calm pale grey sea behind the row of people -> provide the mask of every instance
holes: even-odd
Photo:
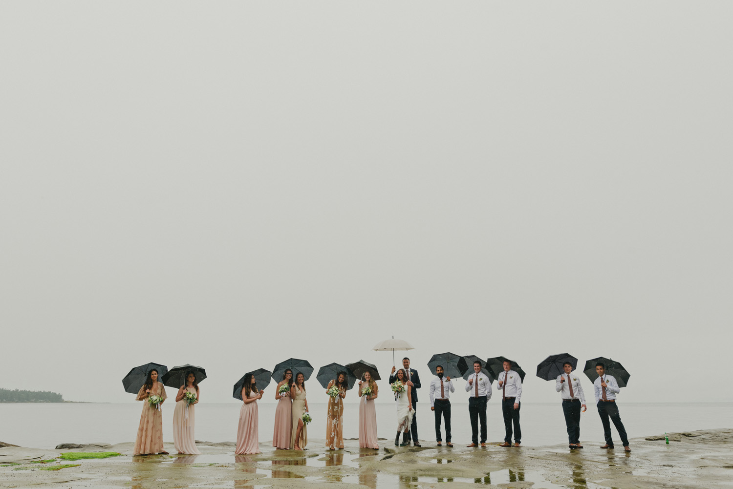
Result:
[[[311,439],[325,438],[325,404],[309,403],[313,422],[308,426]],[[272,440],[274,403],[259,405],[259,441]],[[135,441],[141,402],[125,404],[0,404],[0,441],[21,446],[54,448],[61,443]],[[147,406],[146,406],[147,408]],[[163,405],[163,439],[173,441],[171,422],[173,403]],[[196,439],[235,441],[239,404],[196,405]],[[345,404],[344,438],[358,437],[358,405]],[[468,403],[452,404],[452,432],[455,444],[471,443]],[[664,432],[733,427],[733,403],[634,403],[619,402],[621,419],[629,438]],[[435,418],[428,402],[418,404],[418,427],[421,439],[435,441]],[[378,435],[394,440],[397,432],[394,405],[377,403]],[[488,441],[501,442],[504,422],[498,402],[487,410]],[[528,446],[567,442],[562,408],[556,403],[523,403],[521,411],[522,443]],[[614,438],[617,438],[614,429]],[[603,442],[603,427],[594,406],[581,418],[581,441]],[[391,443],[391,441],[384,442]]]

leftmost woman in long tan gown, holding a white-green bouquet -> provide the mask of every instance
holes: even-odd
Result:
[[[140,426],[135,438],[133,455],[168,455],[163,449],[163,413],[161,405],[167,399],[166,388],[158,382],[158,370],[147,372],[145,383],[135,400],[147,401],[140,415]]]

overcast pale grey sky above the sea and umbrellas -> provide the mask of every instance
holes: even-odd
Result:
[[[0,387],[132,402],[192,363],[235,402],[290,356],[386,374],[394,334],[424,400],[449,350],[526,402],[566,351],[628,402],[733,401],[732,14],[2,2]]]

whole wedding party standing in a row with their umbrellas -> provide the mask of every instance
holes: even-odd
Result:
[[[387,340],[381,350],[410,350],[401,340]],[[382,344],[380,344],[382,345]],[[380,345],[377,345],[380,346]],[[394,348],[401,345],[402,348]],[[377,348],[375,348],[377,350]],[[575,372],[578,359],[567,353],[548,356],[537,365],[537,376],[555,380],[556,391],[561,394],[561,406],[567,427],[568,447],[582,449],[580,441],[581,411],[586,411],[585,394],[580,376]],[[501,394],[501,411],[504,419],[504,443],[499,446],[521,446],[522,431],[520,411],[524,370],[504,356],[483,361],[478,356],[459,356],[454,353],[433,355],[428,367],[434,377],[429,384],[430,409],[435,416],[435,441],[443,444],[444,424],[446,446],[453,446],[451,436],[451,393],[454,380],[465,380],[463,386],[469,393],[468,413],[471,419],[471,446],[486,446],[487,402],[493,395],[492,384]],[[275,399],[278,401],[273,428],[273,447],[276,449],[303,450],[308,444],[308,424],[312,421],[306,399],[306,380],[314,368],[302,359],[288,359],[277,364],[272,371],[255,369],[246,372],[234,384],[232,397],[242,401],[235,454],[259,453],[259,413],[257,401],[262,399],[270,380],[278,383]],[[594,384],[594,400],[603,424],[605,445],[602,449],[614,449],[611,422],[616,427],[622,445],[630,452],[625,427],[616,405],[616,394],[625,387],[630,374],[617,361],[598,357],[586,361],[583,373]],[[168,370],[165,365],[149,363],[134,367],[122,379],[125,391],[137,394],[136,400],[144,401],[133,455],[167,454],[163,449],[163,410],[167,399],[165,386],[177,388],[173,412],[174,446],[179,454],[199,454],[194,437],[195,406],[201,400],[199,383],[206,378],[202,367],[186,364]],[[317,381],[328,395],[326,408],[326,441],[328,449],[343,449],[343,400],[347,391],[358,383],[359,400],[358,441],[364,449],[379,449],[377,443],[377,417],[374,401],[379,396],[377,380],[381,380],[377,367],[360,360],[351,364],[331,363],[320,367]],[[421,446],[418,437],[416,407],[418,389],[422,384],[419,372],[410,367],[410,359],[402,359],[402,367],[392,367],[388,378],[390,395],[396,401],[395,446]],[[480,437],[479,437],[480,435]],[[514,443],[512,444],[512,437]]]

